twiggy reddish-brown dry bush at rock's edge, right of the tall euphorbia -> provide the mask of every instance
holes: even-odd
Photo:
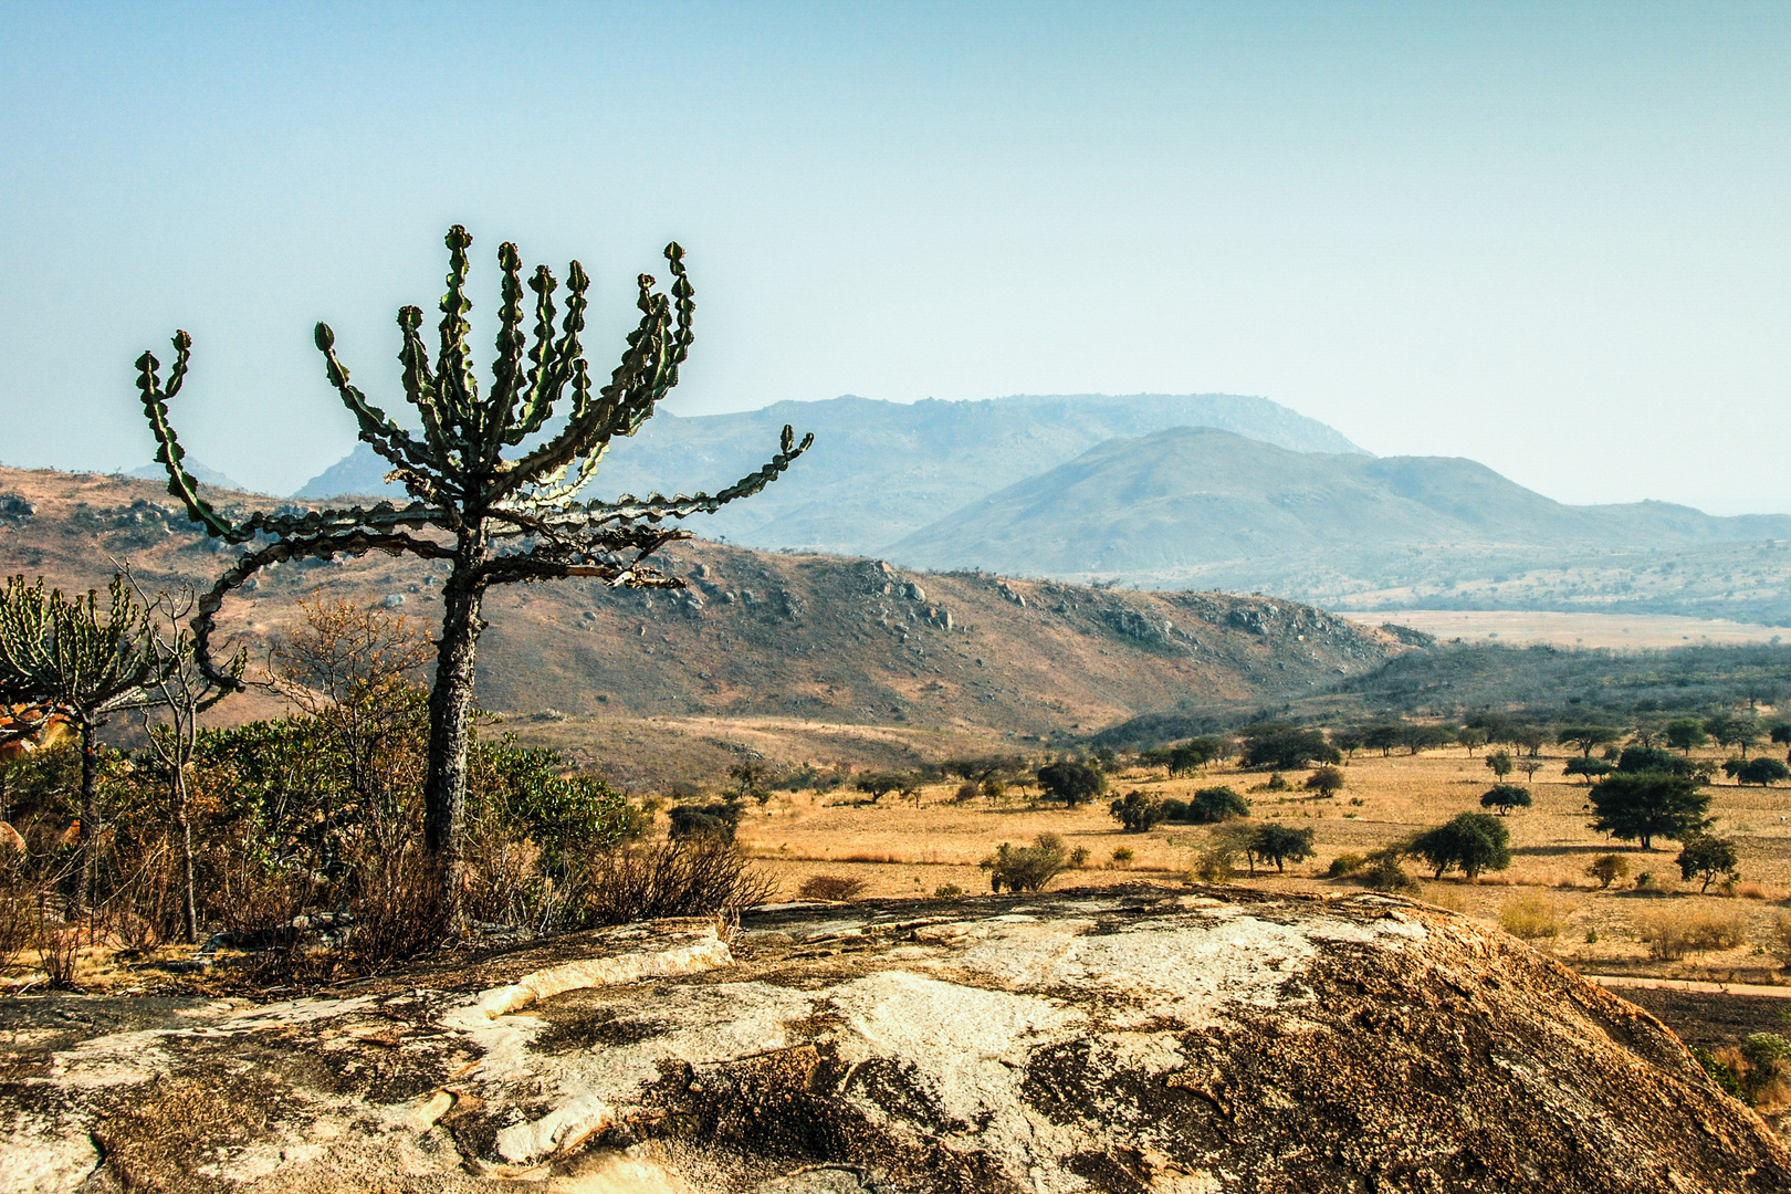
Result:
[[[776,890],[731,841],[702,834],[605,854],[591,868],[584,906],[589,924],[630,924],[750,908]]]

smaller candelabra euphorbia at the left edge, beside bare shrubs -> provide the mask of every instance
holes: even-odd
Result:
[[[99,852],[99,750],[95,732],[120,711],[152,704],[145,689],[174,661],[154,646],[149,610],[122,575],[111,578],[106,614],[99,594],[68,600],[43,580],[13,576],[0,593],[0,700],[56,709],[81,730],[81,877],[75,909],[93,895]]]

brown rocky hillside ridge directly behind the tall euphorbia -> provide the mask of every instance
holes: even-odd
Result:
[[[229,559],[152,482],[0,469],[0,569],[64,587],[129,560],[150,587],[210,584]],[[220,503],[256,499],[227,492]],[[670,550],[682,593],[568,580],[485,603],[480,702],[498,711],[792,716],[1093,730],[1137,712],[1254,705],[1410,650],[1320,610],[1209,593],[1118,593],[876,560]],[[313,594],[439,616],[439,571],[385,557],[269,571],[226,605],[263,643]]]

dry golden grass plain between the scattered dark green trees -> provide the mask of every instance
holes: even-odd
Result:
[[[1780,954],[1778,918],[1791,888],[1791,822],[1786,820],[1791,816],[1791,788],[1710,788],[1718,832],[1739,843],[1743,883],[1730,897],[1716,888],[1700,895],[1696,884],[1687,888],[1680,883],[1673,863],[1676,843],[1662,841],[1650,852],[1587,829],[1587,791],[1583,784],[1562,777],[1565,761],[1565,752],[1549,748],[1546,766],[1531,786],[1535,806],[1506,818],[1515,856],[1510,870],[1465,883],[1458,875],[1433,879],[1422,866],[1408,863],[1424,881],[1422,899],[1487,924],[1499,924],[1501,913],[1510,918],[1510,908],[1530,908],[1531,897],[1546,899],[1551,915],[1519,920],[1519,927],[1528,933],[1553,920],[1553,934],[1533,940],[1556,942],[1564,961],[1590,972],[1784,981],[1778,965],[1780,959],[1791,961],[1791,938],[1786,938]],[[1161,770],[1134,770],[1112,777],[1112,786],[1186,800],[1196,788],[1227,784],[1247,795],[1257,818],[1311,827],[1318,849],[1304,866],[1290,866],[1281,875],[1272,868],[1254,877],[1239,874],[1238,883],[1343,893],[1358,886],[1347,877],[1325,877],[1333,857],[1367,854],[1456,813],[1478,813],[1481,793],[1494,782],[1481,754],[1470,757],[1461,748],[1417,757],[1358,754],[1343,773],[1347,786],[1334,800],[1298,791],[1298,773],[1288,777],[1295,791],[1261,791],[1266,775],[1225,766],[1173,780]],[[931,786],[922,791],[919,807],[856,804],[856,795],[844,791],[779,793],[770,806],[754,809],[741,822],[740,838],[776,875],[784,895],[792,895],[806,877],[827,874],[863,879],[869,884],[865,893],[872,897],[922,895],[944,884],[985,891],[989,877],[976,863],[1001,841],[1019,845],[1041,832],[1062,834],[1071,849],[1089,850],[1089,863],[1060,875],[1053,888],[1121,879],[1177,883],[1213,838],[1209,827],[1196,825],[1123,832],[1107,813],[1105,800],[1080,809],[1035,806],[1024,797],[998,804],[955,802],[955,782]],[[1132,859],[1110,861],[1116,849],[1130,849]],[[1598,881],[1585,874],[1601,854],[1617,854],[1630,868],[1628,877],[1608,890],[1599,890]],[[1644,874],[1650,884],[1637,890],[1635,883]],[[1732,931],[1719,933],[1716,945],[1687,951],[1678,959],[1650,958],[1644,938],[1653,933],[1650,917],[1660,911],[1723,922]]]

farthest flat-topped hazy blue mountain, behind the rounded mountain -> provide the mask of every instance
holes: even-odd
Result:
[[[702,535],[759,548],[874,553],[940,516],[1073,460],[1114,437],[1173,426],[1223,428],[1293,451],[1358,453],[1325,424],[1264,397],[1103,394],[980,403],[836,397],[679,419],[659,414],[604,464],[605,494],[720,489],[759,467],[784,424],[815,449],[749,503],[693,519]],[[360,444],[297,496],[381,492],[385,464]]]

